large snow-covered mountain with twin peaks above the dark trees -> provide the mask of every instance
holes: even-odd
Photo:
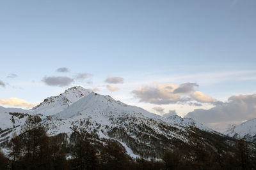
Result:
[[[161,158],[168,149],[190,150],[198,143],[205,149],[217,146],[227,148],[234,143],[233,138],[223,136],[191,118],[164,118],[82,87],[73,87],[60,96],[48,97],[32,110],[15,110],[15,113],[7,108],[2,110],[2,146],[12,138],[13,133],[19,134],[26,117],[36,113],[41,114],[42,124],[47,127],[50,136],[67,134],[69,138],[72,129],[80,129],[96,136],[99,142],[115,139],[131,157]],[[4,127],[3,122],[8,122],[8,126]]]

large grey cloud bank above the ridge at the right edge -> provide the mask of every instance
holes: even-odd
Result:
[[[225,103],[218,102],[209,110],[198,109],[186,117],[194,118],[209,127],[225,129],[228,124],[256,118],[256,94],[231,96]]]

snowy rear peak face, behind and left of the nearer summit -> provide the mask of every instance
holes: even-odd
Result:
[[[47,97],[44,102],[33,108],[34,113],[41,113],[44,116],[54,115],[68,108],[82,97],[90,94],[90,90],[86,90],[81,86],[71,87],[59,96]]]

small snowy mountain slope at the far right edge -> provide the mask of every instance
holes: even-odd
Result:
[[[256,143],[256,118],[247,120],[239,125],[234,125],[226,132],[227,136],[231,136],[236,139],[246,139],[246,141]]]

